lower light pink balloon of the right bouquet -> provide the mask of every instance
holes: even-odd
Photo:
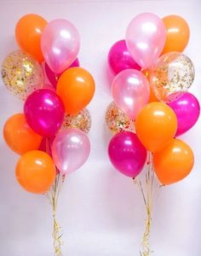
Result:
[[[112,82],[114,102],[131,119],[135,119],[141,108],[147,104],[149,95],[149,82],[146,76],[138,70],[123,70]]]

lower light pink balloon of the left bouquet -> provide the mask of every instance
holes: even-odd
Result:
[[[78,129],[61,130],[56,135],[52,155],[55,166],[62,174],[76,171],[89,157],[89,138]]]

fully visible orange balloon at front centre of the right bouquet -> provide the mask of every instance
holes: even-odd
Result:
[[[156,152],[175,137],[177,130],[175,112],[163,102],[149,103],[137,115],[135,129],[146,149]]]

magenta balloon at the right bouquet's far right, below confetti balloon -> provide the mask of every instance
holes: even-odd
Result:
[[[186,92],[183,96],[170,102],[169,107],[175,111],[177,117],[176,137],[190,130],[198,120],[200,106],[198,99],[190,92]]]

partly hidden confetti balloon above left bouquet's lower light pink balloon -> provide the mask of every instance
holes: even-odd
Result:
[[[91,116],[87,108],[83,108],[77,114],[66,114],[62,128],[77,128],[88,133],[91,127]]]

